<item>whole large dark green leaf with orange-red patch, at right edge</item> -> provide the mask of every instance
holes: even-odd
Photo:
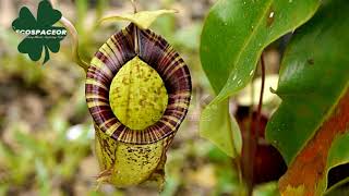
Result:
[[[328,169],[349,160],[336,147],[349,131],[348,10],[346,0],[326,1],[285,53],[276,91],[282,103],[266,136],[289,164],[280,181],[286,194],[321,194]]]

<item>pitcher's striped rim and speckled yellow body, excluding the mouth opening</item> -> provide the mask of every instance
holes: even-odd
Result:
[[[109,101],[113,77],[134,58],[158,73],[168,94],[163,117],[141,131],[122,124]],[[159,35],[140,29],[133,23],[112,35],[93,58],[85,85],[96,130],[96,154],[103,170],[98,179],[123,187],[154,179],[156,174],[163,176],[166,150],[188,112],[191,90],[186,64]],[[154,152],[159,145],[160,155]],[[141,151],[135,150],[139,148]]]

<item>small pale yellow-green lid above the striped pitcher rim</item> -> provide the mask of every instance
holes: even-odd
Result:
[[[142,11],[134,14],[120,14],[104,17],[100,23],[107,21],[130,21],[136,24],[142,29],[147,29],[153,24],[153,22],[164,14],[176,13],[176,10],[156,10],[156,11]]]

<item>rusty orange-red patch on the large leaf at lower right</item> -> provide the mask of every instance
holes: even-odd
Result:
[[[298,154],[279,180],[282,195],[313,196],[322,193],[320,182],[326,177],[327,157],[336,137],[349,133],[349,88],[314,137]]]

